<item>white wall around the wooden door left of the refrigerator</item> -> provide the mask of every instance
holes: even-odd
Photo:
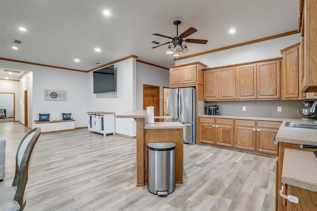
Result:
[[[163,86],[169,86],[169,71],[137,62],[137,110],[143,110],[143,84],[159,86],[159,113],[163,116]]]

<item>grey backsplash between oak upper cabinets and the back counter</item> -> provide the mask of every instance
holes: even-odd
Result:
[[[297,114],[297,110],[306,108],[303,104],[304,101],[309,100],[198,101],[198,114],[206,114],[206,107],[209,105],[219,105],[219,112],[222,115],[301,118],[303,116]],[[243,111],[243,107],[245,107],[245,111]],[[277,111],[278,107],[280,107],[281,112]]]

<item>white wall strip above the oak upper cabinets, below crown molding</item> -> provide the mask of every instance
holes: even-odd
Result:
[[[257,42],[175,61],[175,65],[202,62],[209,68],[281,57],[280,50],[300,42],[300,34]]]

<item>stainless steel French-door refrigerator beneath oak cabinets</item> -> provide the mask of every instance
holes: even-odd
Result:
[[[180,122],[184,128],[184,143],[196,143],[196,89],[193,87],[168,90],[167,115],[169,122]]]

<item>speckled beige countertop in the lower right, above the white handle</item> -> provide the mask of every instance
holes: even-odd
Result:
[[[313,152],[285,149],[283,183],[317,192],[317,158]]]

